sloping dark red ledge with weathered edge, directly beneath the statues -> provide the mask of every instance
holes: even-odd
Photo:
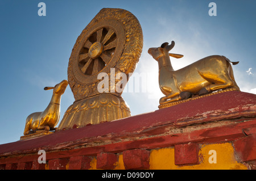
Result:
[[[132,137],[133,134],[137,136],[140,133],[141,135],[160,134],[166,132],[166,129],[162,128],[159,131],[159,127],[166,125],[169,127],[184,127],[222,119],[234,120],[239,119],[241,114],[243,117],[255,116],[255,110],[256,99],[254,94],[230,91],[118,121],[69,129],[32,140],[3,144],[0,145],[0,156],[34,152],[39,149],[61,149],[81,142],[90,142],[93,138],[104,137],[109,134],[112,136],[125,135],[127,137]],[[149,129],[150,133],[147,133]]]

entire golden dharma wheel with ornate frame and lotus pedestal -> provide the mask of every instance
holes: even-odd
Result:
[[[68,64],[68,82],[75,102],[65,112],[59,130],[84,127],[130,116],[122,92],[113,90],[110,70],[133,73],[143,47],[141,25],[131,12],[102,9],[77,38]],[[98,91],[98,74],[109,77],[109,92]],[[115,85],[121,79],[115,77]],[[125,85],[122,85],[123,87]]]

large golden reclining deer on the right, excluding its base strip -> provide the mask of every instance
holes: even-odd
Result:
[[[204,95],[230,87],[240,90],[230,65],[230,63],[236,65],[238,62],[231,62],[224,56],[214,55],[202,58],[182,69],[174,70],[170,56],[183,57],[181,54],[168,53],[174,48],[174,45],[175,43],[172,41],[170,45],[163,43],[161,47],[148,49],[148,53],[158,61],[159,87],[166,95],[160,98],[160,104],[188,99],[192,95]]]

